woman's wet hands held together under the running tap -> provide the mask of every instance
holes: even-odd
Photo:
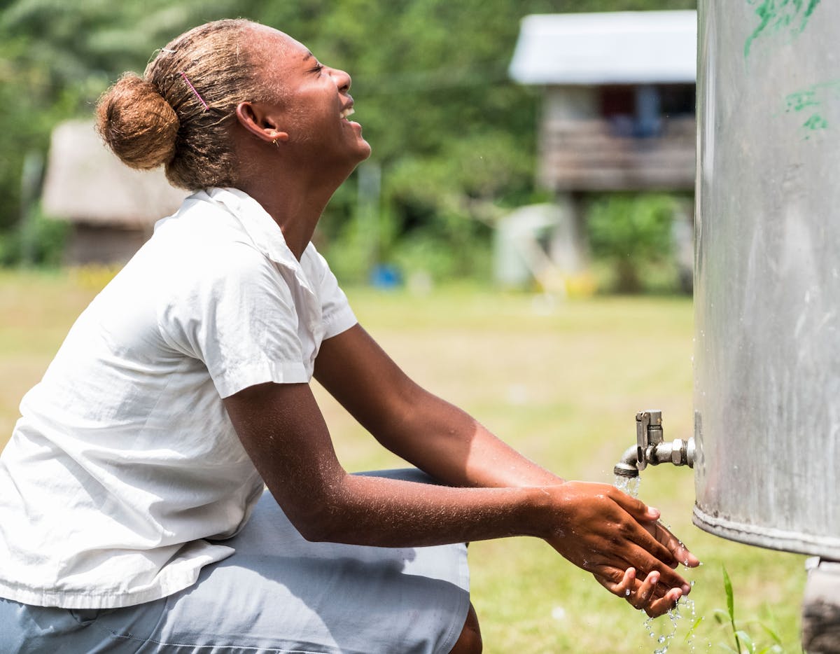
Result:
[[[690,592],[675,568],[700,562],[657,522],[657,509],[608,484],[566,482],[550,493],[554,514],[546,541],[607,590],[648,615],[663,614]]]

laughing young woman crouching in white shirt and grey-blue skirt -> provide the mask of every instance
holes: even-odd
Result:
[[[195,193],[21,404],[0,650],[480,651],[463,543],[511,535],[650,615],[688,593],[674,568],[696,558],[656,509],[528,461],[356,322],[311,243],[370,155],[349,87],[286,34],[223,20],[102,97],[113,151]],[[345,472],[313,376],[416,469]]]

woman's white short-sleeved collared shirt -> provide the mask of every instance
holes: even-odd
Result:
[[[186,198],[70,330],[0,456],[0,597],[160,599],[233,553],[263,483],[222,398],[309,382],[355,324],[326,261],[298,262],[235,189]]]

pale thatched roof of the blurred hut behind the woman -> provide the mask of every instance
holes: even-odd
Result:
[[[44,183],[46,214],[109,227],[142,229],[172,214],[187,192],[163,169],[136,171],[102,143],[92,122],[72,120],[52,134]]]

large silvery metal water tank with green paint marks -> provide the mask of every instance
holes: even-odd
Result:
[[[840,2],[698,18],[694,521],[840,559]]]

